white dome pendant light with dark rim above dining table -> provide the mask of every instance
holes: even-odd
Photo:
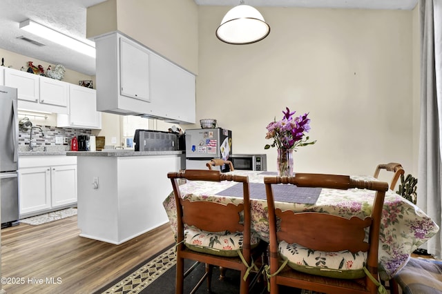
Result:
[[[251,44],[269,35],[270,26],[256,8],[240,5],[229,10],[216,29],[216,37],[233,45]]]

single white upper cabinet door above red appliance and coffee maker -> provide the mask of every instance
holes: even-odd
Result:
[[[102,113],[97,111],[97,92],[94,89],[69,86],[70,126],[101,128]]]

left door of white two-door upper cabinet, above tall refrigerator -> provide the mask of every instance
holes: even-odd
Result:
[[[39,75],[5,68],[5,86],[17,88],[19,100],[39,101]]]

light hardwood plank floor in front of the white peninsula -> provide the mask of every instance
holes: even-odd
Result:
[[[77,216],[39,226],[3,228],[1,277],[19,283],[2,281],[3,290],[90,294],[175,242],[169,224],[120,245],[79,237],[79,233]],[[51,278],[55,284],[46,282]]]

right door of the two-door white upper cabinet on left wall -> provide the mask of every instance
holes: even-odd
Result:
[[[40,103],[68,107],[68,83],[40,77]]]

